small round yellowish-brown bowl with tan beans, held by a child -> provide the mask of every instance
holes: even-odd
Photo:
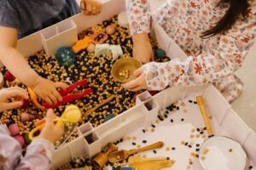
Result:
[[[113,78],[118,82],[131,82],[131,80],[136,78],[133,75],[133,72],[136,71],[141,66],[142,66],[142,63],[139,62],[137,59],[132,59],[132,58],[118,59],[113,64],[111,74]],[[128,78],[119,76],[119,72],[122,72],[125,70],[129,71]]]

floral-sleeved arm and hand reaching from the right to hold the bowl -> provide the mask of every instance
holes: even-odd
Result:
[[[172,59],[166,63],[148,63],[136,71],[137,79],[125,83],[131,91],[148,88],[162,90],[167,86],[205,85],[237,71],[256,37],[254,20],[256,11],[247,19],[237,20],[236,25],[219,37],[216,47],[203,49],[198,56]],[[215,37],[208,41],[217,41]]]

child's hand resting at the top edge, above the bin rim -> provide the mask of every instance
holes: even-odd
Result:
[[[99,0],[81,0],[80,6],[84,14],[100,14],[102,12],[102,2]]]

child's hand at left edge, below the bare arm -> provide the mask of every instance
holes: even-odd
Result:
[[[28,94],[23,88],[3,88],[0,90],[0,111],[15,109],[23,105],[22,101],[9,102],[9,99],[28,99]]]

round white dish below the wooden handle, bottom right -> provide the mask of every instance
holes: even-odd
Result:
[[[209,153],[205,153],[206,149]],[[247,155],[241,144],[235,140],[215,136],[201,145],[199,160],[201,166],[207,170],[241,170],[246,167]]]

